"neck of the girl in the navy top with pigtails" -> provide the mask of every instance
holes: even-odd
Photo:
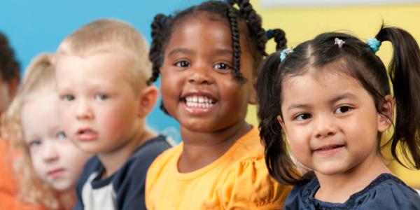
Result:
[[[315,198],[324,202],[344,203],[383,173],[391,171],[377,154],[341,174],[325,175],[315,172],[320,186]]]

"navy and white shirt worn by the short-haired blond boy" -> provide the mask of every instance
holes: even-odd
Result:
[[[102,210],[146,209],[144,200],[146,172],[153,160],[170,147],[166,137],[162,135],[146,141],[116,173],[106,179],[101,179],[105,168],[97,155],[94,155],[85,164],[78,180],[76,186],[78,202],[73,210],[85,207]],[[99,207],[101,205],[105,207]]]

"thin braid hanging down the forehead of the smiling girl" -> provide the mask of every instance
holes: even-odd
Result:
[[[241,44],[239,42],[238,19],[234,8],[228,8],[228,18],[230,29],[232,30],[232,47],[233,47],[233,73],[239,82],[244,83],[246,78],[241,73]]]

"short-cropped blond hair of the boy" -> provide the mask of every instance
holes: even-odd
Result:
[[[113,19],[90,22],[73,32],[59,45],[58,55],[87,57],[97,52],[118,52],[132,60],[128,76],[134,90],[146,86],[152,66],[148,59],[148,44],[132,25]]]

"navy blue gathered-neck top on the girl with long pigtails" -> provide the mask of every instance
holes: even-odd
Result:
[[[283,209],[420,209],[420,196],[392,174],[381,174],[366,188],[350,196],[344,204],[322,202],[314,195],[319,189],[316,177],[290,191]]]

